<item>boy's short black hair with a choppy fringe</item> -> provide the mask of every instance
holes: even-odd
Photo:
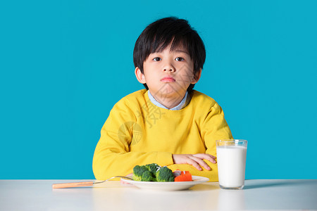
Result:
[[[156,20],[139,35],[133,51],[135,68],[138,67],[144,73],[143,63],[149,54],[163,51],[170,43],[171,50],[178,46],[184,46],[187,49],[194,62],[194,75],[203,68],[206,59],[204,42],[187,20],[175,17]],[[144,84],[144,87],[149,89],[147,84]],[[194,84],[190,84],[187,91],[192,91],[193,88]]]

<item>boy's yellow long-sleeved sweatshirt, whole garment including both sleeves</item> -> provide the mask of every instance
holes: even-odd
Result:
[[[155,106],[147,90],[122,98],[111,110],[101,129],[92,168],[96,179],[132,173],[135,165],[157,163],[170,170],[188,170],[192,175],[218,181],[217,164],[204,160],[211,170],[174,164],[172,154],[216,155],[216,140],[232,139],[218,103],[192,91],[192,99],[181,110]]]

